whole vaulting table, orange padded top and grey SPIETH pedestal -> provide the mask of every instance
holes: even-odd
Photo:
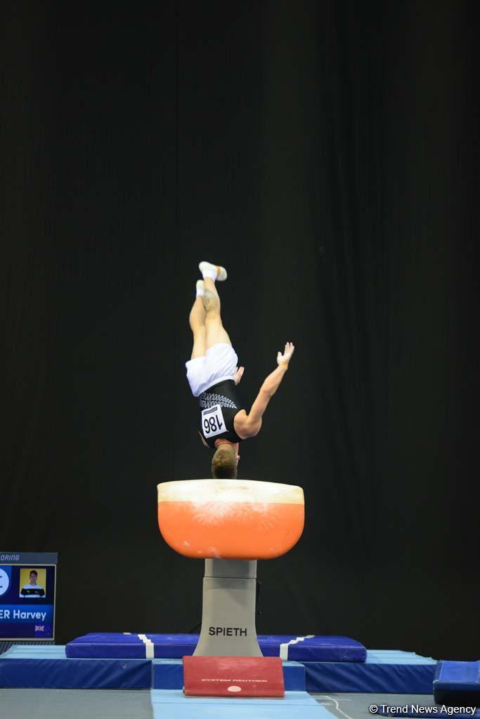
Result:
[[[257,560],[281,557],[302,536],[302,488],[252,480],[163,482],[158,526],[172,549],[205,560],[194,656],[262,656],[255,629]]]

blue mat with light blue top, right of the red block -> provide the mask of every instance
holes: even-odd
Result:
[[[437,662],[415,652],[368,649],[359,664],[304,661],[307,692],[431,694]]]

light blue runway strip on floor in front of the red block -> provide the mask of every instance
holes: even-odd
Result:
[[[229,699],[228,697],[186,697],[175,690],[152,690],[154,719],[332,719],[325,707],[307,692],[286,692],[284,699]],[[228,707],[228,708],[227,708]]]

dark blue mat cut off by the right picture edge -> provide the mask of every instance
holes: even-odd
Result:
[[[480,661],[439,661],[433,679],[435,702],[480,705]]]

